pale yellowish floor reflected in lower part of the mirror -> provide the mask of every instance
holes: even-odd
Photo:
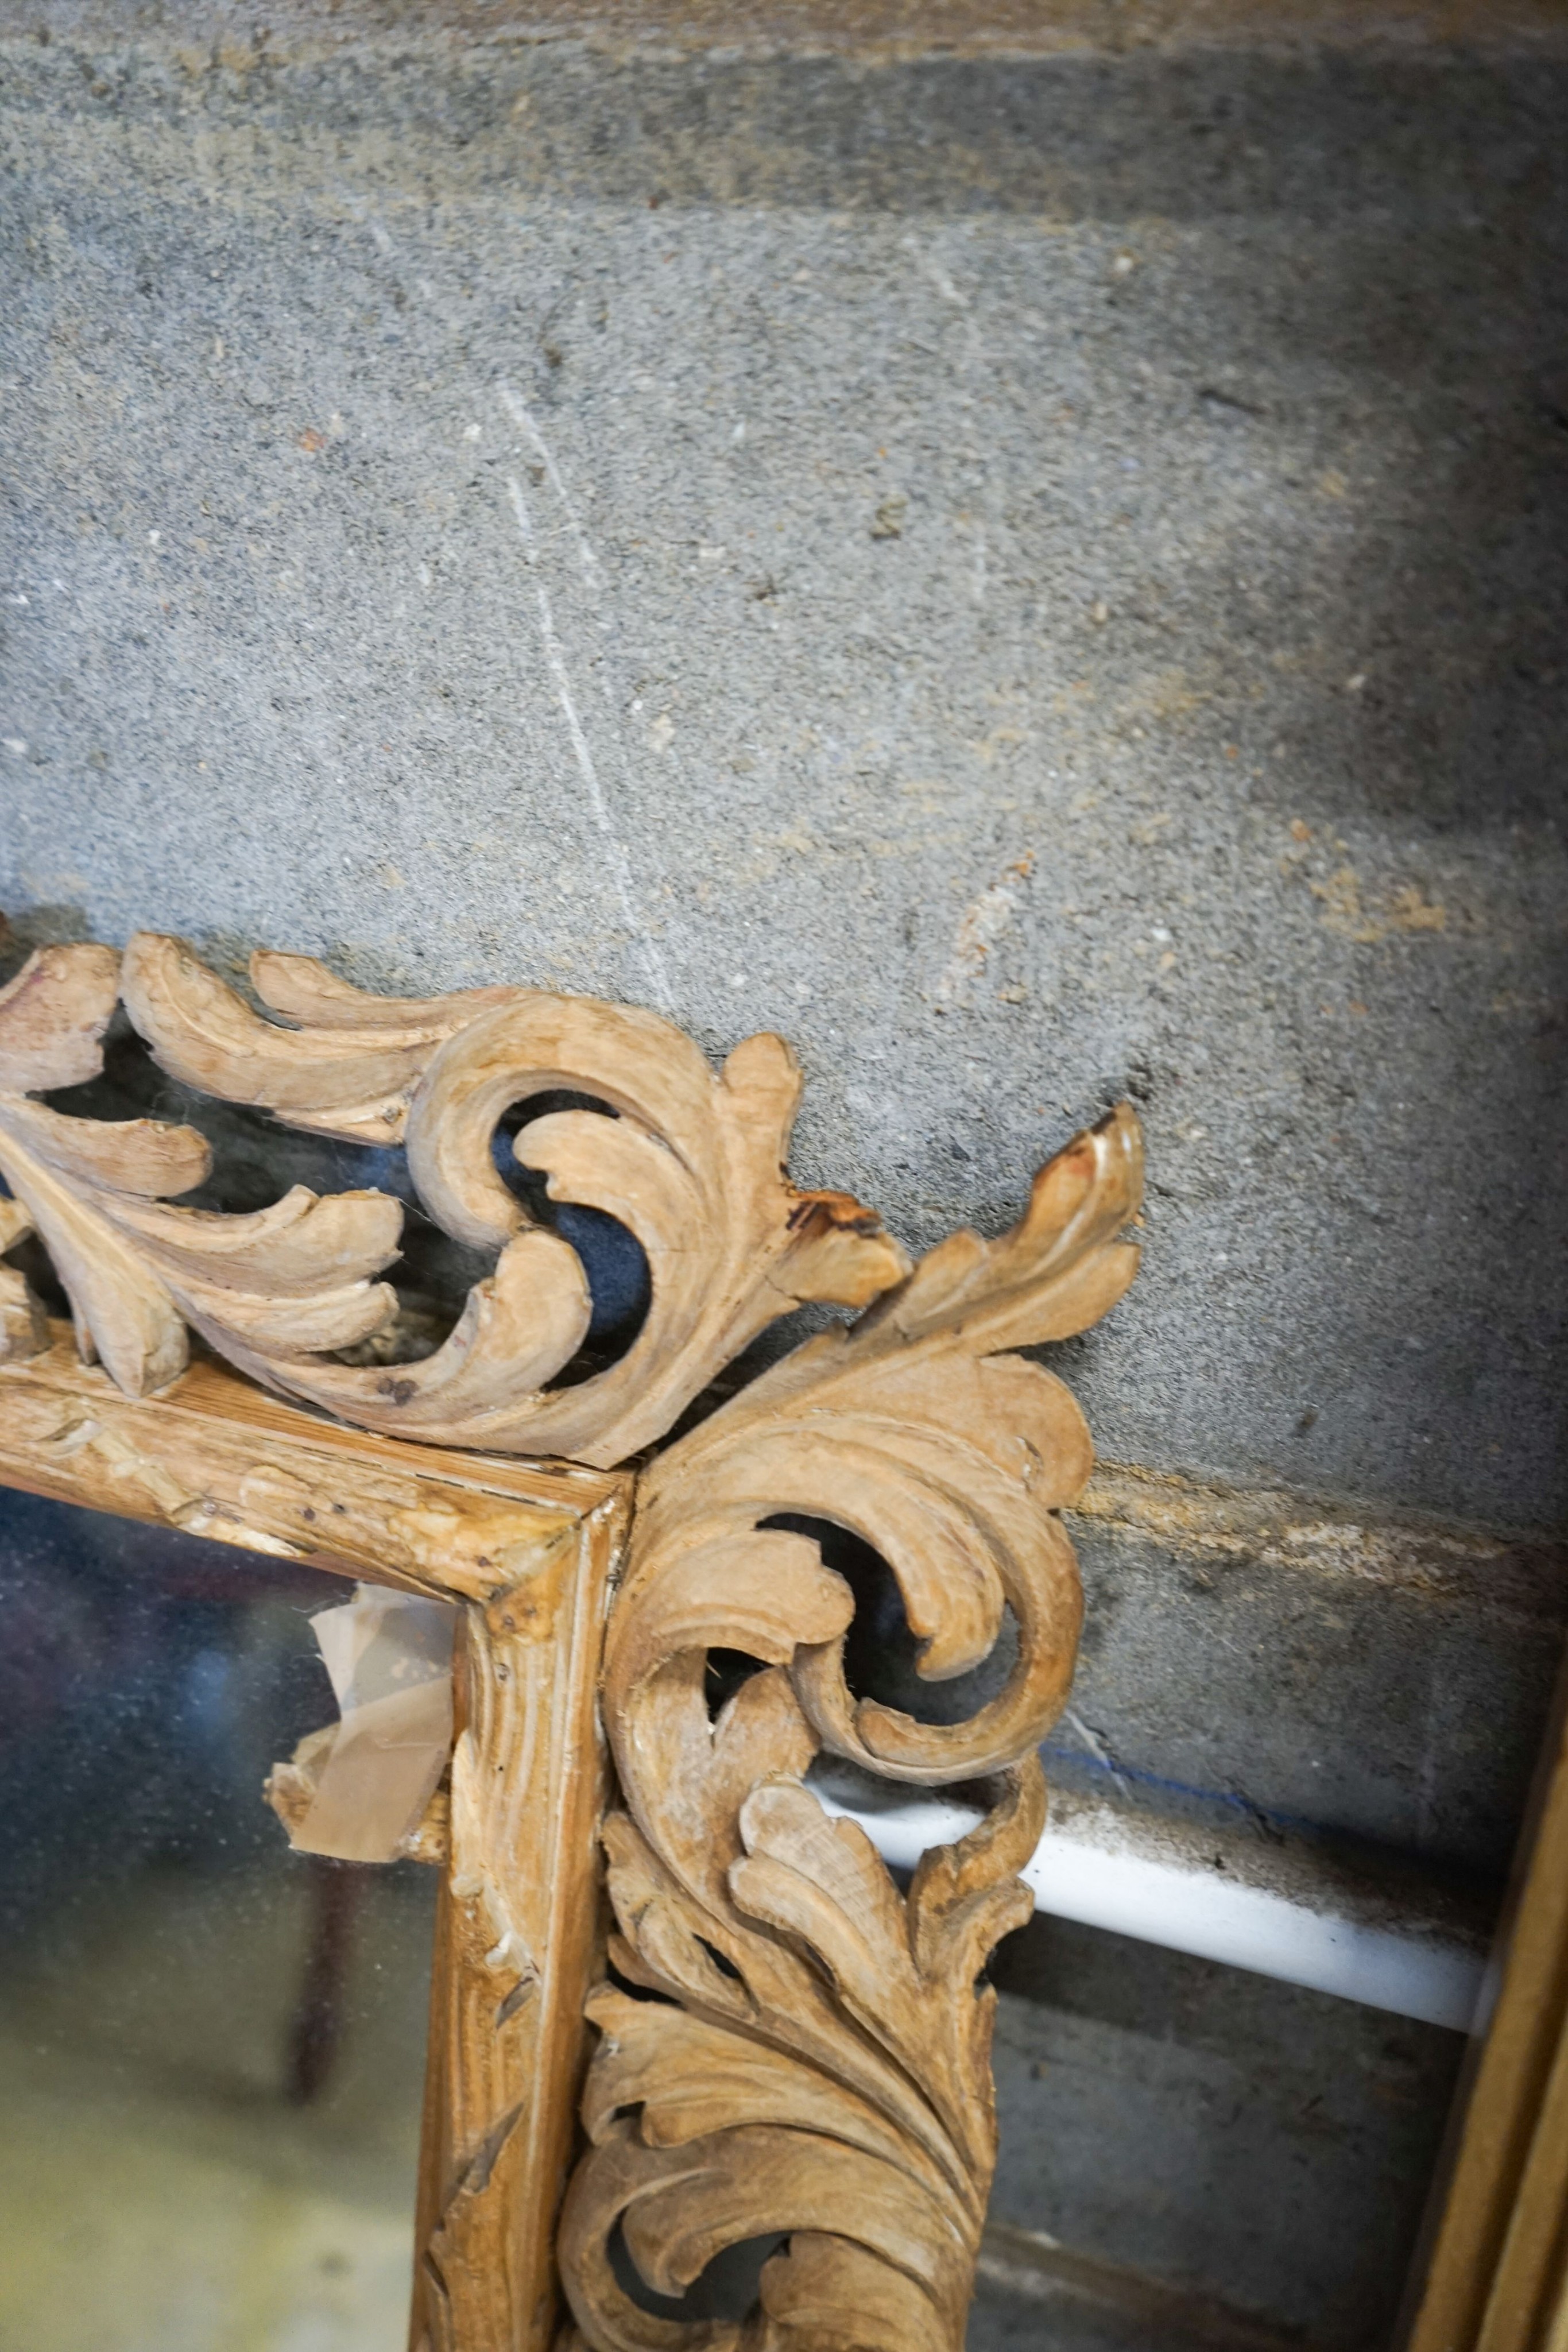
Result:
[[[400,2352],[430,1896],[364,1875],[310,2105],[308,1865],[158,1870],[40,1922],[0,1976],[0,2352]]]

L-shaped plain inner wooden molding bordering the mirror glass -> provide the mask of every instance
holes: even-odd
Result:
[[[458,1606],[451,1792],[423,1849],[447,1867],[411,2345],[545,2345],[604,1945],[595,1698],[630,1479],[364,1437],[216,1364],[127,1399],[56,1324],[0,1362],[0,1482]]]

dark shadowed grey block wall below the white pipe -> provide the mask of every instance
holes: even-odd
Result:
[[[1213,2296],[1281,2352],[1392,2340],[1460,2034],[1065,1919],[999,1980],[999,2220]],[[969,2352],[1237,2345],[1201,2307],[1187,2333],[1128,2303],[992,2291]]]

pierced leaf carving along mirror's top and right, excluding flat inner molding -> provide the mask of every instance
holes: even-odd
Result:
[[[611,1468],[778,1315],[863,1310],[698,1418],[637,1482],[602,1679],[618,1980],[590,2002],[590,2150],[559,2265],[592,2352],[957,2352],[994,2161],[992,1994],[976,1980],[1030,1907],[1016,1872],[1044,1823],[1034,1748],[1079,1630],[1058,1515],[1091,1468],[1070,1392],[1009,1350],[1084,1331],[1131,1282],[1138,1122],[1124,1105],[1079,1134],[1011,1232],[954,1232],[910,1265],[872,1211],[790,1185],[799,1068],[778,1037],[745,1040],[715,1075],[630,1007],[531,988],[402,1002],[270,953],[252,981],[275,1018],[183,943],[141,934],[125,957],[45,948],[0,993],[0,1258],[38,1232],[78,1345],[129,1397],[176,1381],[195,1331],[367,1430]],[[397,1317],[378,1279],[402,1232],[386,1192],[181,1207],[212,1164],[195,1129],[40,1101],[99,1073],[118,1002],[186,1087],[350,1143],[407,1143],[430,1216],[496,1251],[444,1343],[346,1359]],[[552,1200],[625,1225],[651,1277],[632,1343],[576,1385],[552,1383],[588,1331],[583,1265],[491,1157],[512,1105],[562,1091],[614,1115],[545,1108],[517,1157]],[[0,1265],[0,1357],[47,1343],[21,1272]],[[882,1555],[931,1679],[978,1668],[1011,1625],[1001,1689],[945,1724],[856,1698],[853,1595],[802,1522]],[[710,1651],[755,1661],[717,1719]],[[823,1752],[983,1788],[990,1809],[900,1891],[865,1830],[816,1795]],[[482,2032],[484,2013],[463,2030]],[[762,2307],[736,2324],[656,2317],[611,2258],[621,2234],[644,2281],[677,2296],[722,2246],[773,2232],[785,2246]]]

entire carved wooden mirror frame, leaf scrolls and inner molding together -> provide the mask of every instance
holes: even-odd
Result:
[[[1081,1609],[1058,1515],[1091,1468],[1070,1392],[1006,1350],[1131,1282],[1133,1112],[1074,1136],[1011,1232],[912,1265],[858,1202],[788,1181],[778,1037],[715,1075],[632,1007],[371,997],[273,953],[252,981],[273,1018],[141,934],[42,948],[0,993],[0,1479],[461,1604],[449,1816],[423,1837],[444,1893],[414,2352],[957,2352],[994,2164],[980,1976],[1030,1910],[1034,1750]],[[40,1101],[101,1068],[115,1004],[207,1096],[407,1143],[430,1216],[498,1254],[456,1329],[423,1355],[400,1329],[393,1197],[179,1207],[209,1171],[195,1129]],[[491,1157],[510,1105],[559,1091],[614,1115],[545,1110],[517,1155],[651,1275],[625,1355],[576,1385],[552,1383],[583,1265]],[[26,1232],[75,1348],[2,1263]],[[856,1319],[693,1411],[806,1301]],[[856,1698],[853,1595],[802,1522],[884,1557],[931,1679],[1011,1616],[1001,1689],[954,1724]],[[755,1672],[710,1719],[715,1649]],[[985,1816],[900,1889],[825,1811],[820,1752],[980,1785]],[[745,2321],[656,2317],[618,2272],[623,2239],[679,2296],[764,2234]]]

